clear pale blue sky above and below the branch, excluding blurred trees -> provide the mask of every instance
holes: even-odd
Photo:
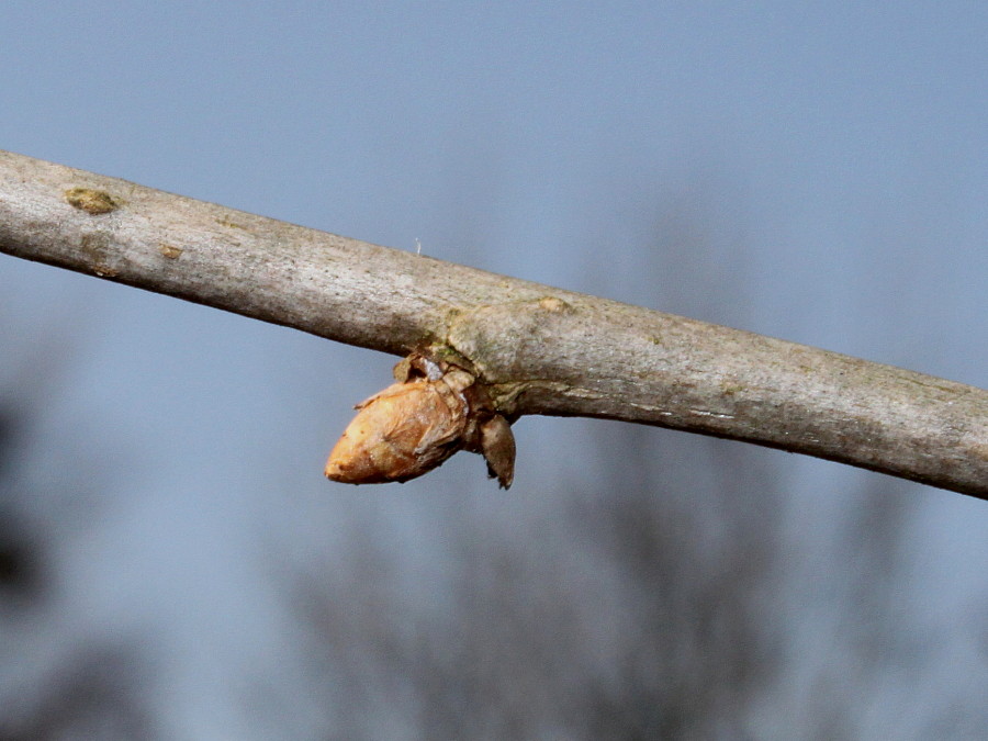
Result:
[[[981,2],[15,1],[0,148],[984,388],[986,37]],[[656,274],[699,259],[691,239],[716,246],[701,285]],[[401,497],[322,479],[393,360],[0,256],[2,372],[52,383],[37,445],[90,460],[105,505],[66,546],[81,618],[48,629],[158,630],[173,738],[251,738],[210,677],[288,640],[245,561],[259,534],[343,548],[373,517],[418,543],[430,486],[484,484],[465,456]],[[575,475],[558,451],[594,424],[517,426],[508,513]],[[821,530],[877,475],[751,454],[786,458]],[[930,619],[983,605],[984,503],[905,491]],[[69,505],[85,519],[44,506]]]

